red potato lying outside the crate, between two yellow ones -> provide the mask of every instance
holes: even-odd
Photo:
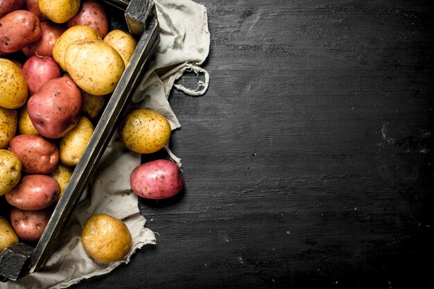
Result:
[[[173,161],[157,159],[140,164],[130,175],[132,191],[142,198],[171,198],[184,188],[180,168]]]

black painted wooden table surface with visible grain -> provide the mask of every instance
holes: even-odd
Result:
[[[139,203],[157,245],[73,288],[433,288],[432,2],[198,3],[186,190]]]

